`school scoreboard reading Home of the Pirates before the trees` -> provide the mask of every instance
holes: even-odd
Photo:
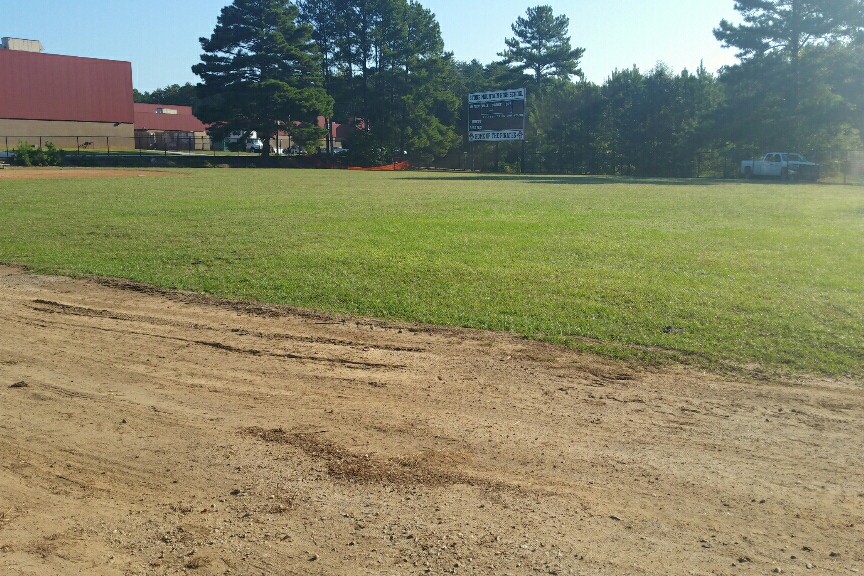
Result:
[[[525,89],[468,95],[468,141],[525,139]]]

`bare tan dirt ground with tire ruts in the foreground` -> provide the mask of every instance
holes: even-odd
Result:
[[[856,574],[864,387],[0,266],[0,574]]]

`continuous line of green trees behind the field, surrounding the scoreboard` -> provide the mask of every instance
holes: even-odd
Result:
[[[714,35],[736,64],[633,67],[595,84],[569,20],[545,5],[516,20],[499,60],[481,63],[447,52],[434,14],[412,0],[234,0],[201,38],[201,82],[138,97],[186,98],[164,103],[191,103],[216,132],[262,138],[314,132],[323,116],[356,127],[346,146],[368,162],[399,151],[452,163],[468,150],[467,95],[523,86],[526,142],[486,150],[482,168],[692,176],[769,149],[862,148],[864,0],[735,9],[740,23],[723,20]]]

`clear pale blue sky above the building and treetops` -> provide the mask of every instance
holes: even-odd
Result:
[[[135,88],[197,82],[198,38],[209,36],[230,0],[0,0],[0,36],[41,40],[45,51],[132,62]],[[487,64],[529,6],[570,18],[582,69],[602,83],[617,69],[664,62],[674,71],[711,71],[735,61],[712,29],[736,20],[734,0],[420,0],[435,13],[447,50]]]

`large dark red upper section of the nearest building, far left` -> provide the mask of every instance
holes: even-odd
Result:
[[[132,64],[0,50],[0,118],[132,124]]]

